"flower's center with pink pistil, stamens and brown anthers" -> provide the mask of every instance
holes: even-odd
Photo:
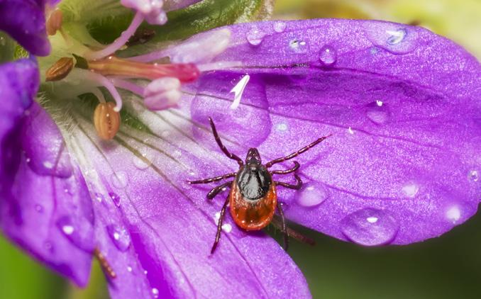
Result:
[[[94,113],[94,124],[99,137],[103,139],[113,138],[120,124],[118,113],[122,108],[122,98],[117,89],[131,91],[144,98],[145,106],[151,110],[170,108],[179,101],[182,84],[197,80],[201,72],[194,63],[165,63],[165,56],[150,61],[136,60],[136,57],[116,57],[114,53],[117,50],[123,50],[131,44],[144,43],[155,34],[152,30],[148,31],[147,35],[142,30],[137,31],[143,21],[157,25],[166,21],[162,1],[150,1],[147,6],[139,7],[136,6],[138,1],[121,2],[124,6],[136,9],[136,15],[130,26],[113,43],[106,46],[99,45],[92,37],[89,37],[90,43],[74,40],[67,30],[62,29],[62,11],[50,9],[47,12],[46,28],[53,49],[51,56],[58,56],[55,45],[59,45],[62,54],[67,57],[61,57],[50,64],[44,73],[45,81],[85,81],[85,89],[77,87],[77,95],[92,93],[98,98],[99,106]],[[71,73],[72,77],[69,78]],[[109,91],[116,102],[115,106],[106,106],[99,87]],[[118,120],[118,123],[112,125],[113,119],[116,122]]]

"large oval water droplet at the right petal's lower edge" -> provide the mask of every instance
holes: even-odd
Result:
[[[364,208],[341,220],[341,231],[352,242],[363,246],[389,244],[399,230],[399,223],[386,210]]]

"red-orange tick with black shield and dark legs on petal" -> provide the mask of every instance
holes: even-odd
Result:
[[[289,245],[289,236],[300,239],[303,242],[313,243],[311,239],[304,237],[298,232],[295,232],[287,227],[282,206],[280,205],[279,201],[277,201],[277,187],[295,190],[299,190],[302,187],[302,180],[297,175],[297,170],[300,167],[299,162],[294,161],[294,167],[291,169],[272,171],[269,169],[274,164],[297,157],[299,154],[302,154],[315,145],[318,145],[331,135],[321,137],[306,147],[302,147],[302,149],[298,150],[297,152],[293,152],[285,157],[277,158],[267,162],[266,164],[262,164],[260,154],[256,148],[250,148],[248,150],[247,156],[245,157],[245,162],[236,156],[236,154],[229,152],[222,144],[221,138],[217,133],[216,125],[214,125],[212,118],[209,118],[209,122],[211,124],[212,133],[214,134],[217,145],[219,145],[222,152],[226,154],[228,158],[236,160],[236,162],[239,164],[239,170],[237,172],[223,174],[222,176],[216,176],[209,179],[201,179],[199,181],[188,181],[189,184],[209,184],[235,177],[235,179],[232,181],[226,181],[225,183],[212,188],[212,190],[207,193],[207,198],[212,200],[221,191],[225,190],[225,188],[231,188],[231,191],[229,192],[221,209],[221,216],[217,225],[216,239],[214,241],[214,245],[212,246],[211,254],[214,253],[217,244],[219,244],[222,223],[226,215],[228,204],[234,222],[236,222],[236,225],[243,228],[243,230],[262,230],[262,228],[266,227],[271,222],[277,227],[280,227],[280,230],[284,235],[285,250],[287,250]],[[272,179],[273,175],[285,174],[294,174],[296,184],[288,184]],[[279,215],[275,214],[276,208],[279,212]],[[279,217],[280,221],[278,220]]]

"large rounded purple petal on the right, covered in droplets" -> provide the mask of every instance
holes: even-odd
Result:
[[[481,67],[462,47],[424,28],[382,21],[229,29],[230,47],[214,62],[245,67],[204,74],[183,107],[201,124],[192,128],[201,145],[219,151],[205,130],[212,116],[233,152],[258,146],[265,162],[333,134],[296,158],[302,190],[279,192],[291,220],[380,245],[436,237],[474,215],[481,199]],[[231,109],[229,92],[245,74],[250,81]]]

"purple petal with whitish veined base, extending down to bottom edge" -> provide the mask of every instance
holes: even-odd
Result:
[[[165,123],[157,114],[148,115],[159,126],[156,132],[172,135],[158,138],[123,127],[116,142],[102,142],[91,123],[79,120],[81,130],[70,140],[88,153],[84,167],[99,198],[94,201],[99,248],[117,276],[109,283],[111,296],[309,298],[302,273],[279,244],[240,231],[229,217],[221,244],[210,254],[226,193],[209,203],[204,191],[185,180],[193,177],[191,171],[201,175],[201,158],[209,161],[211,152],[175,129],[189,128],[182,118],[162,111],[158,115],[169,119]]]

